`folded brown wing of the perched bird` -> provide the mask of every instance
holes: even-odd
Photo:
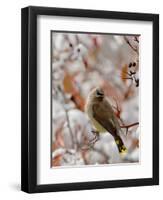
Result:
[[[115,116],[110,104],[107,101],[94,104],[92,107],[93,117],[113,136],[117,134]]]

